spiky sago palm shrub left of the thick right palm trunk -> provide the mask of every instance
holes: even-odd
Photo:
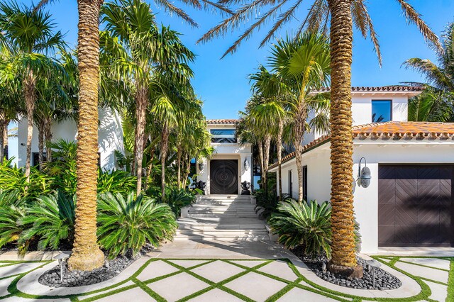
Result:
[[[270,220],[270,227],[279,234],[279,243],[287,248],[303,247],[309,256],[326,252],[331,255],[331,206],[328,201],[299,203],[284,201]]]

